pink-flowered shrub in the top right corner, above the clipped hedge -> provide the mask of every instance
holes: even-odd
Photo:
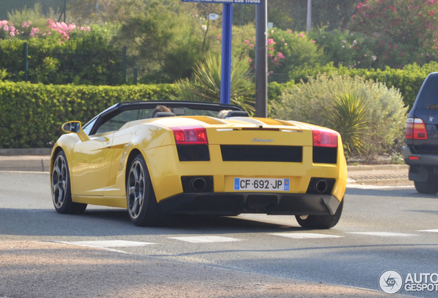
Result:
[[[374,68],[438,61],[438,1],[365,0],[356,10],[351,32],[373,42]]]

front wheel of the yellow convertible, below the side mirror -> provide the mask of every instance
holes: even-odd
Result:
[[[56,211],[63,214],[81,214],[85,211],[87,204],[72,201],[70,174],[67,158],[63,151],[60,151],[53,161],[51,184],[53,205]]]

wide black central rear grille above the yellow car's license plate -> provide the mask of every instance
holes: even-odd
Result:
[[[220,145],[223,161],[302,162],[301,146]]]

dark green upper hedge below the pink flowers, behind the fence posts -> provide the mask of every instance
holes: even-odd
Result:
[[[69,41],[0,39],[0,71],[6,80],[24,81],[24,43],[28,43],[28,81],[76,85],[121,85],[122,50],[99,32],[81,32]]]

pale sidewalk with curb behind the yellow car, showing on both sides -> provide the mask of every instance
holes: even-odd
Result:
[[[0,170],[49,172],[50,149],[0,149]],[[407,165],[348,166],[348,183],[362,185],[413,185]]]

